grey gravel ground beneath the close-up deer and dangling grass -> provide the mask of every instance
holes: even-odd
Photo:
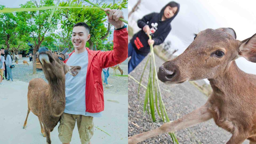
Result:
[[[159,57],[155,57],[157,62],[157,70],[159,66],[164,63]],[[135,79],[139,80],[143,71],[143,68],[146,63],[146,58],[136,67],[136,69],[130,73]],[[142,80],[143,85],[147,85],[149,69],[145,70],[144,77]],[[138,83],[136,83],[130,77],[128,78],[128,136],[139,134],[145,131],[149,131],[159,127],[163,122],[153,123],[151,117],[146,113],[143,116],[143,107],[140,106],[137,92],[138,92]],[[203,83],[203,80],[200,80],[198,83]],[[194,85],[190,82],[185,82],[179,85],[165,85],[160,81],[160,88],[162,93],[162,98],[166,106],[168,116],[171,121],[182,117],[183,115],[190,113],[191,111],[197,109],[198,107],[205,104],[207,101],[206,95],[201,93]],[[140,100],[144,102],[145,89],[141,87],[140,90]],[[155,111],[157,115],[157,112]],[[160,117],[156,116],[157,120],[160,120]],[[139,127],[135,126],[131,122],[137,124]],[[195,125],[193,127],[179,130],[175,132],[176,137],[179,143],[191,144],[191,143],[226,143],[231,134],[222,128],[215,125],[213,119]],[[171,137],[169,134],[162,134],[156,137],[147,139],[145,143],[172,143]],[[248,141],[244,143],[249,143]]]

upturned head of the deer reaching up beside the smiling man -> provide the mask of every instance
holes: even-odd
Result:
[[[51,53],[47,47],[40,47],[38,50],[39,62],[48,81],[65,78],[66,73],[75,76],[81,70],[80,66],[68,66],[62,62],[69,57],[65,54],[67,50],[68,48],[64,49],[59,55]]]

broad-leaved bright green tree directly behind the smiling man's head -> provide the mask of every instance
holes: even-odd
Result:
[[[78,0],[69,2],[62,2],[59,6],[71,6],[71,7],[85,7],[83,2]],[[78,3],[79,2],[79,3]],[[101,1],[102,2],[102,1]],[[109,7],[111,9],[122,9],[126,8],[127,0],[122,2],[111,3],[107,5],[106,3],[101,3],[103,8]],[[90,27],[91,38],[89,39],[89,48],[93,49],[94,44],[102,43],[102,40],[106,39],[109,35],[111,25],[106,22],[106,14],[104,11],[99,9],[60,9],[59,14],[62,15],[61,28],[65,30],[69,35],[71,35],[73,25],[78,22],[86,22]]]

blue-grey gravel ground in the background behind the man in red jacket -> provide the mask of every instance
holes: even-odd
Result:
[[[26,60],[29,63],[29,66],[23,65],[22,61]],[[13,61],[14,64],[14,61]],[[15,63],[16,64],[16,63]],[[32,62],[29,62],[29,58],[22,58],[19,60],[18,65],[15,65],[15,68],[12,69],[13,73],[13,79],[15,80],[23,81],[23,82],[29,82],[33,78],[42,78],[46,82],[45,75],[42,70],[37,70],[37,74],[33,74],[33,64]],[[128,74],[128,60],[124,61],[119,65],[121,69],[123,70],[123,75]],[[104,87],[104,93],[108,94],[128,94],[128,78],[127,77],[119,77],[119,76],[113,76],[113,69],[109,68],[109,78],[107,79],[108,83],[110,85],[113,85],[113,87],[107,88],[105,85]],[[120,74],[119,70],[117,70],[117,75]],[[104,78],[104,74],[102,72],[102,77]],[[47,82],[48,83],[48,82]]]

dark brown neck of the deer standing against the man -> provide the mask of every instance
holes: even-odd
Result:
[[[60,116],[65,109],[65,77],[51,79],[49,82],[48,105],[51,114]]]

